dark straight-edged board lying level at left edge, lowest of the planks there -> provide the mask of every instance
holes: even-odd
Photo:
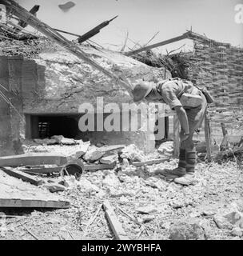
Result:
[[[44,201],[34,199],[19,198],[0,198],[0,208],[19,207],[19,208],[69,208],[70,202],[67,201]]]

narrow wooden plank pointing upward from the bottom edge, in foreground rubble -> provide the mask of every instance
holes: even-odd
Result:
[[[123,230],[121,222],[119,222],[117,215],[114,213],[114,208],[110,205],[110,202],[107,200],[103,202],[103,208],[106,211],[106,218],[108,219],[115,238],[117,240],[129,240],[128,236],[125,234],[125,230]]]

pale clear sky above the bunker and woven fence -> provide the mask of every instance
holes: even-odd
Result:
[[[85,34],[101,22],[118,15],[109,26],[91,38],[102,46],[121,50],[128,33],[127,47],[143,46],[193,32],[205,34],[219,42],[243,46],[243,23],[235,22],[237,4],[243,0],[73,0],[76,5],[64,12],[58,5],[68,0],[18,0],[30,10],[40,5],[38,18],[49,26],[75,34]],[[62,34],[66,36],[65,34]],[[74,37],[67,37],[75,39]],[[157,50],[173,50],[183,42]],[[129,50],[126,48],[126,50]]]

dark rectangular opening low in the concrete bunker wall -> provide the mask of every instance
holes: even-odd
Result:
[[[26,138],[50,138],[63,135],[65,138],[76,138],[79,115],[26,114]]]

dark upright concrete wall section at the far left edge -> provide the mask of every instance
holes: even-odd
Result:
[[[24,130],[22,111],[22,57],[0,56],[0,155],[21,154]],[[4,99],[5,98],[5,99]],[[11,102],[12,106],[8,101]]]

